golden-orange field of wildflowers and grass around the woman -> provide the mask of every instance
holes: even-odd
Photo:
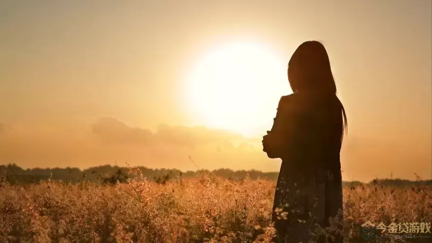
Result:
[[[127,183],[116,184],[45,181],[11,185],[3,180],[0,242],[270,242],[275,186],[267,179],[234,180],[211,174],[163,183],[139,173]],[[431,222],[431,192],[430,186],[345,187],[342,223],[346,242],[366,242],[359,234],[366,221],[386,226]]]

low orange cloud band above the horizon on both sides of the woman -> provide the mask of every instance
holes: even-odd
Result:
[[[12,131],[12,132],[11,132]],[[155,131],[132,127],[114,118],[92,124],[6,125],[0,123],[0,164],[26,167],[67,167],[131,165],[150,168],[195,170],[189,156],[202,169],[229,168],[278,171],[280,160],[262,152],[261,138],[245,139],[224,130],[204,126],[160,124]],[[375,176],[415,179],[413,173],[430,178],[431,141],[407,143],[402,140],[355,138],[344,140],[342,169],[351,179],[369,181]],[[406,164],[410,163],[410,167]],[[408,169],[407,169],[408,168]]]

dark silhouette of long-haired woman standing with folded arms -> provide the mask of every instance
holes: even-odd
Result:
[[[342,243],[340,150],[347,123],[320,42],[297,48],[288,80],[294,93],[281,97],[273,127],[262,140],[267,156],[282,159],[272,214],[274,242],[327,238]]]

